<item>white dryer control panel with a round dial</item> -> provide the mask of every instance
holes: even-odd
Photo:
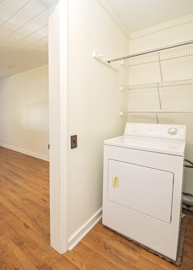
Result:
[[[186,125],[127,123],[124,135],[185,141]]]

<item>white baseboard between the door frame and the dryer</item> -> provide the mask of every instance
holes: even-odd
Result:
[[[68,240],[68,250],[72,250],[74,246],[76,246],[82,240],[82,238],[94,227],[94,225],[96,225],[97,222],[99,222],[101,218],[102,208]]]

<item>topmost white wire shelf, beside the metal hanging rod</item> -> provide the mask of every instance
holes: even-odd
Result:
[[[176,47],[165,51],[154,52],[148,55],[146,54],[133,58],[127,58],[122,61],[124,61],[124,63],[127,63],[129,66],[134,66],[139,64],[147,64],[173,58],[179,58],[188,55],[193,55],[193,44],[189,46]]]

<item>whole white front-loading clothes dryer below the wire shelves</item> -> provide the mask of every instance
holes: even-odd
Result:
[[[176,260],[185,125],[127,123],[104,142],[103,225]]]

